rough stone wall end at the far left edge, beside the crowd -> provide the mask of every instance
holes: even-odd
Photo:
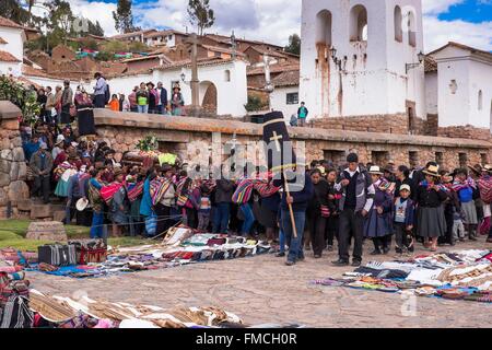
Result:
[[[0,101],[0,220],[19,213],[17,202],[30,198],[26,164],[19,131],[21,110]]]

